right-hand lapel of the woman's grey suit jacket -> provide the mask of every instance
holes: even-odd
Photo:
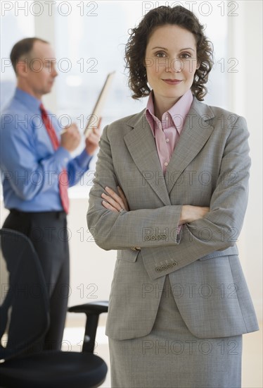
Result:
[[[184,169],[210,138],[214,129],[210,125],[213,117],[214,114],[210,107],[198,102],[195,98],[193,99],[179,141],[167,166],[165,181],[168,193],[170,193]]]

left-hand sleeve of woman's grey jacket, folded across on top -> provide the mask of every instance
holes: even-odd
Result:
[[[101,194],[108,186],[117,193],[117,177],[115,175],[111,155],[108,126],[105,127],[100,140],[100,150],[96,163],[94,185],[89,194],[89,210],[87,223],[94,241],[105,250],[127,249],[135,246],[141,248],[177,245],[180,235],[177,226],[181,215],[181,205],[163,206],[156,209],[140,209],[111,212],[102,205]],[[163,233],[167,227],[174,229],[174,236],[167,238]],[[149,238],[148,231],[155,230],[155,240]]]

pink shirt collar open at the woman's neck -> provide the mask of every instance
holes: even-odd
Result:
[[[174,126],[177,128],[179,135],[181,134],[182,129],[184,128],[184,121],[188,111],[191,108],[193,102],[193,95],[189,89],[180,99],[170,108],[167,112],[162,115],[162,122],[154,114],[154,104],[153,104],[153,91],[150,92],[148,98],[148,103],[146,107],[146,119],[150,124],[150,128],[155,136],[155,125],[161,125],[162,130],[169,128],[169,126]],[[168,121],[165,120],[168,114]]]

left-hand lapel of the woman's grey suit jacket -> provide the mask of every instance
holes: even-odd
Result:
[[[143,178],[158,195],[164,205],[171,205],[165,184],[155,139],[145,116],[145,109],[133,116],[127,125],[134,128],[124,136],[124,142]]]

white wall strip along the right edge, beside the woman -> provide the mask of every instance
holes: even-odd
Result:
[[[238,73],[229,74],[230,110],[245,117],[250,131],[250,197],[238,247],[257,315],[262,320],[262,1],[237,1],[229,18],[229,57]]]

